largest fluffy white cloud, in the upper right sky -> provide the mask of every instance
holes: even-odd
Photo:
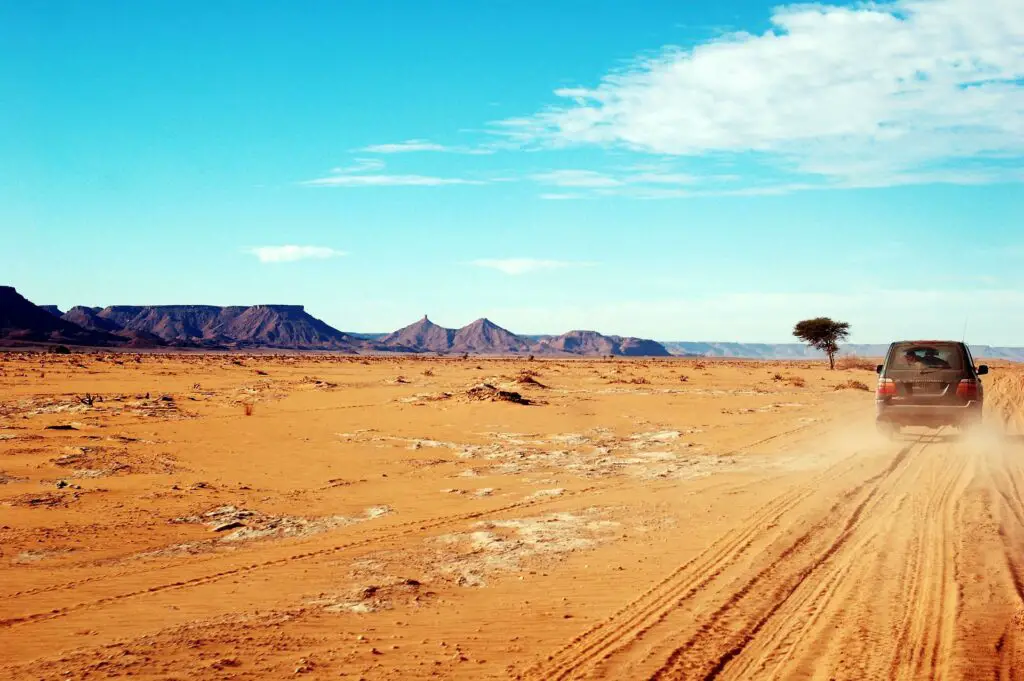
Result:
[[[757,154],[831,185],[1021,179],[1021,0],[790,5],[771,22],[558,90],[566,103],[499,128],[526,144]]]

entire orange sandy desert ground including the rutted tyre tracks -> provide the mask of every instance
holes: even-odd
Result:
[[[857,382],[0,353],[0,678],[1024,679],[1024,370]]]

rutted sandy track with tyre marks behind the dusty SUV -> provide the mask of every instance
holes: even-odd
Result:
[[[939,432],[857,452],[527,676],[1024,678],[1022,484],[1020,442]]]

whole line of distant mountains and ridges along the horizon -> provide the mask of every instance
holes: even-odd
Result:
[[[13,287],[0,286],[0,341],[6,345],[63,343],[110,347],[166,345],[207,349],[323,350],[347,353],[434,352],[480,355],[691,356],[820,359],[801,343],[653,340],[596,331],[518,335],[487,318],[446,329],[427,315],[390,334],[338,331],[302,305],[35,305]],[[879,357],[888,344],[844,345],[840,354]],[[1024,361],[1024,347],[972,345],[977,358]]]

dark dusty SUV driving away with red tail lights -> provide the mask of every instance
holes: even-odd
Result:
[[[889,435],[902,426],[956,426],[981,423],[985,391],[967,344],[957,341],[899,341],[879,365],[876,422]]]

